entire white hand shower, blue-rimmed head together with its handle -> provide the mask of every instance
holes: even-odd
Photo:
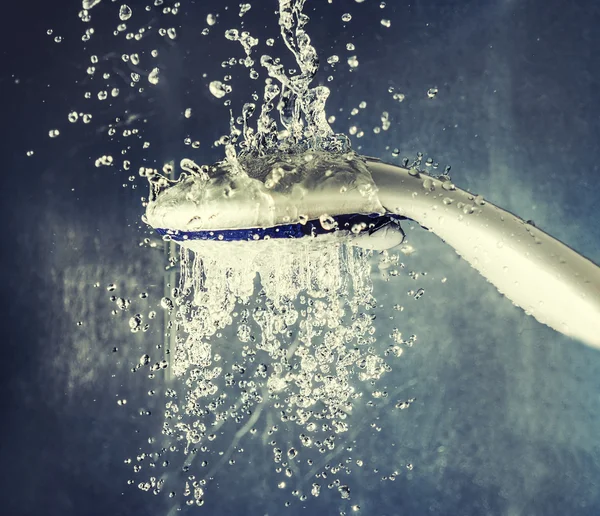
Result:
[[[207,240],[226,246],[277,238],[381,250],[401,243],[400,222],[412,220],[513,304],[600,348],[600,267],[446,176],[351,153],[270,155],[184,177],[151,199],[146,217],[158,233],[194,250]]]

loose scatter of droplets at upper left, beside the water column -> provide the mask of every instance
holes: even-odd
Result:
[[[173,17],[180,13],[180,9],[181,3],[172,0],[149,0],[144,5],[133,6],[116,3],[115,0],[82,0],[79,19],[86,26],[81,36],[86,50],[88,45],[91,47],[94,44],[93,39],[98,37],[97,27],[92,25],[96,12],[101,15],[101,12],[113,10],[116,15],[116,23],[109,27],[109,30],[112,30],[117,40],[115,49],[118,50],[106,53],[90,52],[89,62],[84,68],[85,80],[79,81],[85,84],[83,99],[79,99],[82,106],[80,109],[71,108],[66,114],[68,125],[75,127],[80,124],[91,125],[92,121],[98,120],[96,131],[104,133],[114,146],[111,154],[92,157],[96,167],[117,167],[127,171],[131,166],[130,160],[126,159],[127,155],[135,153],[136,150],[144,152],[150,148],[150,141],[144,134],[144,124],[147,124],[148,120],[134,111],[136,108],[132,109],[130,106],[137,100],[144,99],[147,96],[146,90],[161,82],[161,68],[157,61],[159,50],[150,50],[148,39],[153,37],[154,43],[159,44],[164,38],[176,39],[177,29]],[[47,34],[54,37],[52,29],[48,29]],[[62,41],[62,38],[56,36],[55,41]],[[122,97],[123,102],[127,103],[124,113],[121,109],[123,102],[116,103],[118,97]],[[74,99],[74,102],[77,100]],[[95,113],[100,116],[96,118]],[[186,112],[186,117],[189,116]],[[54,127],[48,131],[48,136],[57,139],[65,133],[68,134],[69,129],[71,128],[65,126]],[[197,148],[199,142],[192,142],[190,139],[189,144]],[[27,155],[32,156],[33,153],[31,150]],[[123,183],[123,187],[135,189],[135,179],[135,176],[129,175],[128,182]],[[142,202],[145,201],[146,199],[142,198]]]

